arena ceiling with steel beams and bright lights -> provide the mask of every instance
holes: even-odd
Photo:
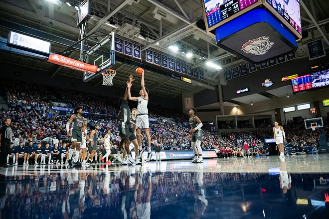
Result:
[[[72,6],[66,4],[66,1],[70,2]],[[79,37],[79,29],[76,26],[78,11],[73,5],[78,5],[79,1],[81,0],[58,0],[59,3],[54,4],[48,0],[1,0],[0,21],[18,23],[51,33],[54,36],[77,41]],[[297,57],[307,57],[307,43],[320,38],[324,39],[328,52],[328,0],[300,0],[300,2],[302,29],[308,32],[308,36],[298,42]],[[166,14],[165,18],[157,19],[157,13],[154,12],[157,9]],[[154,48],[191,62],[192,67],[201,66],[207,70],[205,80],[193,85],[170,79],[156,72],[147,72],[146,85],[151,88],[153,94],[158,96],[175,98],[182,93],[197,93],[209,86],[216,87],[218,82],[224,80],[224,69],[244,62],[235,55],[218,48],[215,38],[207,35],[200,28],[200,19],[202,19],[200,0],[93,0],[92,14],[93,18],[88,22],[87,32],[99,30],[110,33],[114,31],[123,38],[140,43],[143,49]],[[107,22],[114,22],[118,28],[107,25]],[[0,27],[1,37],[7,38],[8,32],[8,27],[3,25]],[[145,39],[138,37],[136,33],[139,32],[143,32]],[[101,37],[95,36],[90,38],[88,43],[94,45],[100,39]],[[172,53],[168,49],[172,43],[178,43],[182,49],[192,49],[192,61],[181,53]],[[65,48],[66,46],[59,43],[52,43],[51,52],[56,53]],[[205,55],[206,60],[220,65],[223,70],[215,71],[207,68],[204,60],[200,59],[200,53]],[[79,51],[71,51],[66,56],[79,59]],[[82,72],[58,67],[44,60],[23,55],[1,52],[0,61],[43,70],[49,72],[50,77],[65,75],[82,79]],[[125,86],[127,75],[133,73],[135,68],[129,64],[117,62],[114,69],[118,70],[119,74],[113,80],[114,86]],[[99,77],[91,83],[99,86],[101,81],[102,79]],[[261,98],[259,100],[261,101]]]

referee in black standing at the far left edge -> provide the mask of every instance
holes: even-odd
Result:
[[[4,119],[4,125],[0,128],[0,167],[7,166],[6,157],[9,153],[12,131],[10,118]]]

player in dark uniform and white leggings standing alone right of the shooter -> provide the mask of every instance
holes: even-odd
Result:
[[[192,149],[194,151],[194,159],[191,161],[191,163],[202,163],[203,158],[202,158],[202,149],[201,149],[201,141],[202,141],[202,122],[197,117],[196,115],[196,109],[191,108],[188,111],[189,115],[189,124],[191,125],[191,130],[190,130],[190,137],[191,137],[191,145]]]

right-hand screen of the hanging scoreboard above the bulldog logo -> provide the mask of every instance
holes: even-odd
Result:
[[[282,17],[286,21],[286,25],[290,25],[300,35],[302,35],[301,9],[299,0],[266,0],[266,3],[268,3],[275,10],[275,15],[277,17]]]

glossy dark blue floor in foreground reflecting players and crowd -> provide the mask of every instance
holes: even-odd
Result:
[[[162,172],[160,163],[115,171],[10,167],[0,176],[0,218],[328,218],[329,174],[286,166],[267,174],[203,172],[203,164],[192,172]]]

